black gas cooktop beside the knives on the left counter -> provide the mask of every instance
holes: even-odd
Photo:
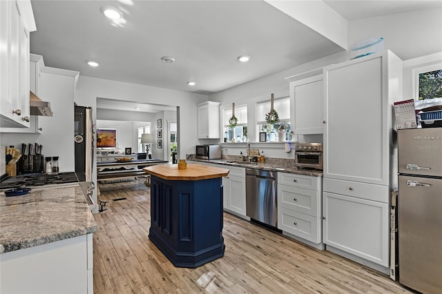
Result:
[[[0,182],[0,190],[46,186],[53,184],[68,184],[75,182],[78,182],[78,178],[73,172],[58,173],[54,175],[46,173],[30,173],[4,179],[2,182]]]

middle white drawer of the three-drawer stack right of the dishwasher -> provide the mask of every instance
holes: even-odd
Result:
[[[317,217],[318,191],[278,184],[278,208],[288,208]]]

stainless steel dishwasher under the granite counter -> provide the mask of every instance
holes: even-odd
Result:
[[[276,172],[246,168],[246,214],[277,227]]]

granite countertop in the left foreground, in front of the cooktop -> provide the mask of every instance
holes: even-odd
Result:
[[[0,253],[94,233],[97,224],[80,186],[0,194]]]

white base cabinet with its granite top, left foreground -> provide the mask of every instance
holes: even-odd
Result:
[[[97,225],[78,184],[0,193],[0,293],[93,293]]]

